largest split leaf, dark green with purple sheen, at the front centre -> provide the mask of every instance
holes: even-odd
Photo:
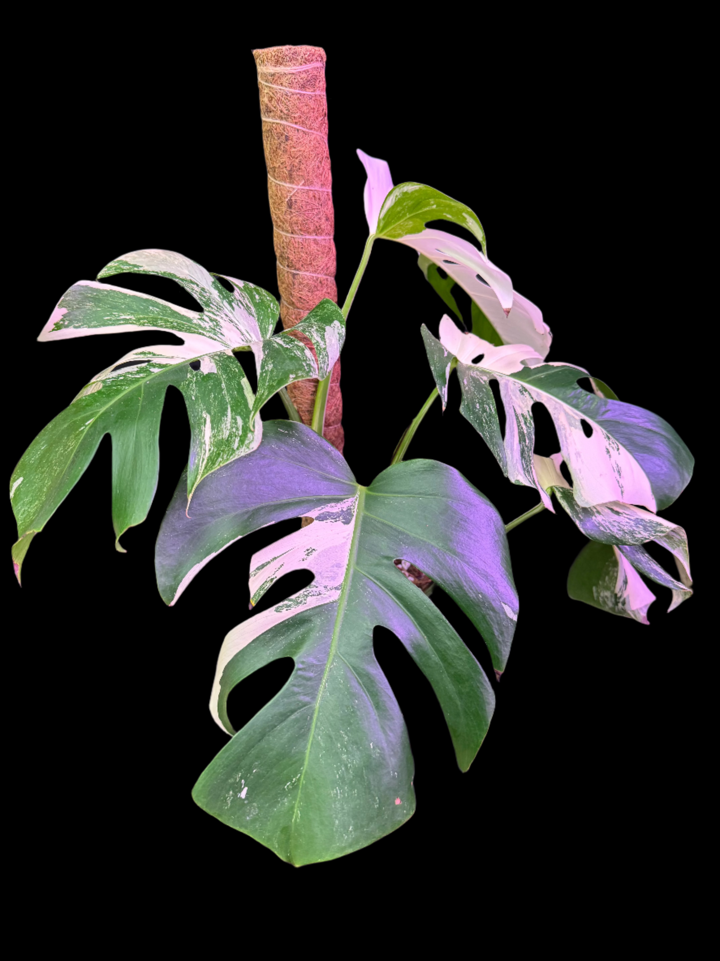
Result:
[[[408,736],[372,653],[372,628],[393,630],[432,684],[464,771],[493,708],[480,665],[394,561],[410,559],[444,588],[500,672],[517,597],[497,511],[432,460],[396,464],[363,487],[322,437],[289,421],[266,422],[256,451],[207,478],[189,518],[184,488],[183,478],[157,540],[157,582],[169,604],[233,541],[285,518],[313,523],[255,554],[252,603],[289,571],[315,575],[228,634],[210,706],[234,736],[200,777],[195,800],[293,864],[370,844],[415,808]],[[279,657],[295,661],[291,678],[234,733],[229,691]]]

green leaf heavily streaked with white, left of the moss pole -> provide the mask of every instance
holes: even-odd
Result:
[[[190,498],[211,471],[257,447],[262,436],[258,411],[277,390],[324,377],[339,356],[345,321],[331,301],[323,301],[294,329],[309,337],[316,360],[294,333],[272,335],[276,299],[252,283],[227,277],[228,291],[199,264],[163,250],[126,254],[99,276],[122,273],[171,278],[203,309],[91,281],[76,283],[63,295],[39,340],[149,329],[175,333],[183,344],[121,357],[84,386],[22,456],[11,480],[18,579],[30,541],[83,475],[106,433],[112,436],[112,521],[122,550],[121,535],[145,519],[155,496],[157,434],[168,385],[180,388],[190,420]],[[236,350],[254,353],[257,396],[233,357]]]

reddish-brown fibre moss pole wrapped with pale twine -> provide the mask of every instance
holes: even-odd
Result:
[[[253,50],[260,88],[260,116],[268,196],[275,228],[280,317],[287,330],[324,297],[337,301],[332,178],[327,150],[325,53],[321,47]],[[302,338],[312,350],[312,345]],[[288,388],[305,424],[312,418],[317,380]],[[325,408],[324,436],[340,452],[340,361],[335,364]]]

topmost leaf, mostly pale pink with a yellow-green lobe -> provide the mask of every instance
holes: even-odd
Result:
[[[425,278],[462,320],[454,298],[450,301],[445,296],[454,283],[459,283],[473,303],[474,333],[503,344],[529,344],[545,357],[552,340],[550,329],[543,322],[540,309],[514,293],[508,275],[488,259],[485,232],[472,210],[430,186],[394,186],[385,160],[369,157],[362,150],[357,154],[368,174],[365,214],[371,235],[417,250]],[[448,220],[466,228],[482,250],[446,231],[425,228],[432,220]],[[450,278],[449,287],[437,274],[438,267]]]

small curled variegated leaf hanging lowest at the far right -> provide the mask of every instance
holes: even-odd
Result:
[[[641,507],[618,502],[581,507],[561,473],[562,463],[561,454],[535,456],[536,474],[544,489],[555,494],[577,527],[593,542],[583,548],[570,568],[570,597],[641,624],[648,623],[647,610],[655,595],[640,574],[670,588],[672,601],[668,611],[687,600],[692,595],[692,579],[683,528]],[[642,547],[649,541],[673,554],[680,580],[671,578]]]

